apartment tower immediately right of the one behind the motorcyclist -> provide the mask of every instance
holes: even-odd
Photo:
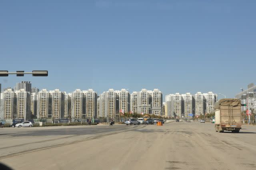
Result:
[[[117,91],[119,99],[119,112],[128,113],[130,111],[130,93],[126,89]]]

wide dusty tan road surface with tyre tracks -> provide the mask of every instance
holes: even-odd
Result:
[[[255,170],[256,126],[172,122],[0,129],[0,162],[14,170]]]

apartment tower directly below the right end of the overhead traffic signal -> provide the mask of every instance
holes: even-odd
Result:
[[[38,92],[37,102],[37,117],[48,118],[49,114],[49,92],[46,89],[42,89]]]

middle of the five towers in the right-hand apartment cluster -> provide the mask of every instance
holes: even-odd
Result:
[[[194,97],[190,93],[182,94],[182,115],[185,118],[192,117],[190,114],[194,115]]]

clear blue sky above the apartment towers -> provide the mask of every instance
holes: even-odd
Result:
[[[49,76],[0,83],[234,97],[256,83],[255,9],[255,0],[1,0],[0,70]]]

